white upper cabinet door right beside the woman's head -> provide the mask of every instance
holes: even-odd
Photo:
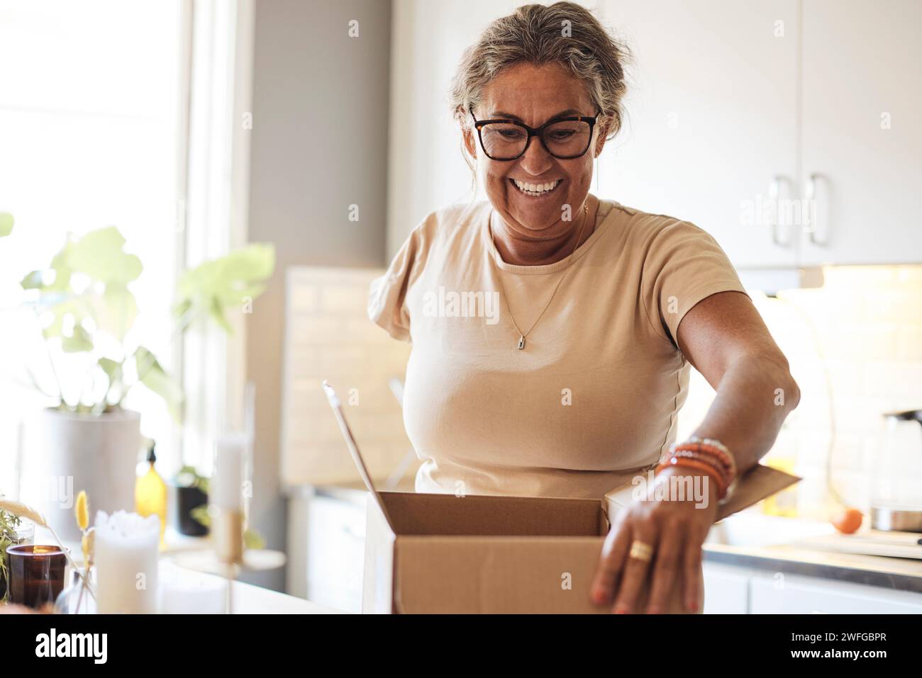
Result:
[[[621,133],[598,193],[693,222],[738,267],[793,267],[772,211],[797,190],[798,0],[609,0],[632,51]]]

